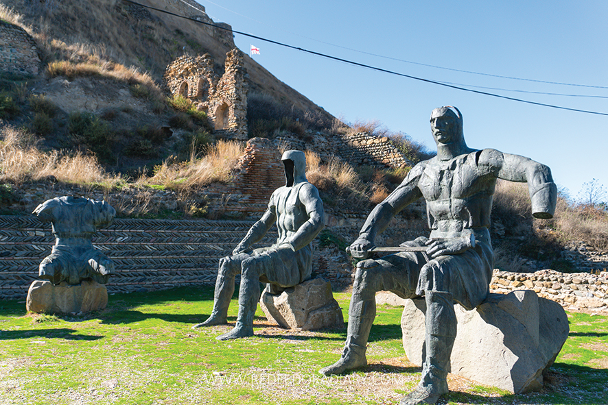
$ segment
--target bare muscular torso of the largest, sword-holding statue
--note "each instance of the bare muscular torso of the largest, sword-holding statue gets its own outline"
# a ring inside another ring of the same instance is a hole
[[[418,188],[426,200],[432,237],[488,228],[496,175],[478,164],[481,153],[426,162]]]

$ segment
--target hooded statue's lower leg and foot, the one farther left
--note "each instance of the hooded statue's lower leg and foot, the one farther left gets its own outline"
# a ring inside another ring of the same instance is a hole
[[[246,256],[248,257],[248,256]],[[228,323],[228,307],[234,293],[234,279],[241,271],[240,258],[226,257],[220,259],[218,278],[215,279],[215,293],[213,294],[213,310],[206,321],[198,323],[192,328],[202,326],[225,325]]]

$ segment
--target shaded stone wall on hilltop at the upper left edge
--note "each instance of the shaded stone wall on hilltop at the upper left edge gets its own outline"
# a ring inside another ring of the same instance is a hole
[[[0,20],[0,71],[23,75],[40,73],[34,38],[25,29]]]

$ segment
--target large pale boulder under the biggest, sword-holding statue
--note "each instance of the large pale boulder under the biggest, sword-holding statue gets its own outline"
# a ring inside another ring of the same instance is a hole
[[[422,365],[424,299],[408,300],[401,317],[408,359]],[[456,304],[458,333],[450,358],[452,373],[512,393],[541,389],[543,373],[553,364],[570,328],[559,304],[534,291],[490,294],[465,310]]]

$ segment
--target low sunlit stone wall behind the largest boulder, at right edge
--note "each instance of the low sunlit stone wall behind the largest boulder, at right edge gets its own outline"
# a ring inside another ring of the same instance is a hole
[[[569,310],[608,310],[608,271],[599,273],[510,273],[495,270],[491,292],[507,294],[513,290],[533,290],[539,297],[559,302]]]

